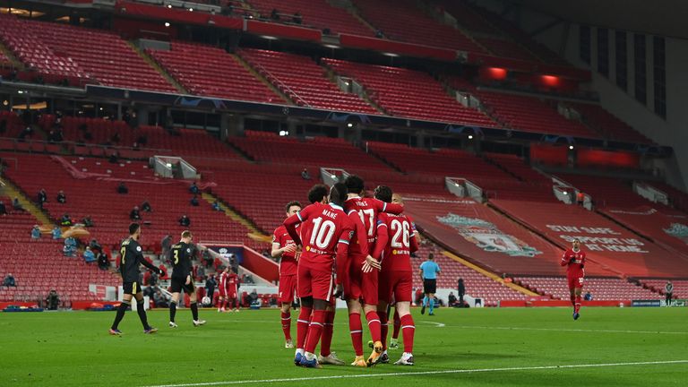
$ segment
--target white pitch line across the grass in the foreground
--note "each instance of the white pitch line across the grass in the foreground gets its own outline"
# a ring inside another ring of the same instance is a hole
[[[182,384],[159,384],[146,387],[200,387],[200,386],[216,386],[216,385],[231,385],[231,384],[255,384],[255,383],[288,383],[288,382],[310,382],[314,380],[331,380],[331,379],[356,379],[356,378],[370,378],[380,376],[414,376],[414,375],[428,375],[428,374],[475,374],[475,373],[489,373],[489,372],[503,372],[503,371],[533,371],[533,370],[551,370],[551,369],[565,369],[565,368],[600,368],[600,367],[614,367],[614,366],[653,366],[653,365],[669,365],[669,364],[688,364],[688,360],[665,360],[665,361],[648,361],[648,362],[628,362],[628,363],[602,363],[602,364],[583,364],[583,365],[560,365],[560,366],[523,366],[523,367],[505,367],[505,368],[476,368],[476,369],[459,369],[459,370],[443,370],[443,371],[421,371],[421,372],[397,372],[387,374],[343,374],[343,375],[329,375],[329,376],[308,376],[297,378],[282,378],[282,379],[258,379],[245,381],[224,381],[224,382],[207,382],[207,383],[182,383]]]

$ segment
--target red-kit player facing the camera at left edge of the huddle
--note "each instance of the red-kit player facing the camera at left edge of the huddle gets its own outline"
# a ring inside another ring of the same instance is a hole
[[[301,211],[300,202],[288,202],[285,206],[287,218]],[[287,228],[280,226],[272,234],[272,258],[280,258],[280,289],[279,300],[281,308],[282,331],[284,332],[284,348],[294,348],[291,340],[291,304],[297,291],[297,245],[289,236]]]

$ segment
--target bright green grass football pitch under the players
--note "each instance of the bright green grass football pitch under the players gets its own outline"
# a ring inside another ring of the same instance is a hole
[[[154,335],[127,312],[121,337],[107,334],[115,313],[2,313],[0,386],[688,385],[688,308],[584,307],[575,322],[570,308],[435,312],[413,310],[416,366],[323,369],[293,365],[276,309],[202,310],[198,328],[179,310],[176,329],[167,311],[151,311]],[[332,349],[353,360],[344,310]],[[390,350],[392,362],[401,351]]]

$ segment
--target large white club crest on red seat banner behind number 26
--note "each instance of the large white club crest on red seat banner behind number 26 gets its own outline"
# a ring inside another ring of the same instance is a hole
[[[455,228],[460,236],[486,252],[528,257],[542,254],[519,238],[504,234],[494,224],[483,219],[467,218],[449,212],[443,217],[438,216],[437,220]]]

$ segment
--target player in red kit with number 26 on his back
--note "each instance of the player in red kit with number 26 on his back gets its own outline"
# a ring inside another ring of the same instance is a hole
[[[380,185],[375,188],[375,198],[383,202],[403,204],[401,196],[392,196],[391,189]],[[393,198],[393,199],[392,199]],[[404,353],[399,361],[394,363],[401,366],[413,366],[413,338],[416,326],[411,316],[411,293],[413,292],[413,270],[411,269],[411,253],[418,250],[413,222],[406,215],[378,214],[377,242],[375,254],[382,251],[382,266],[380,272],[379,295],[377,313],[383,322],[387,323],[387,305],[391,299],[395,300],[395,310],[399,313],[401,328],[404,335]],[[385,324],[386,325],[386,324]],[[386,328],[386,327],[385,327]],[[383,329],[383,361],[387,360],[387,329]]]

